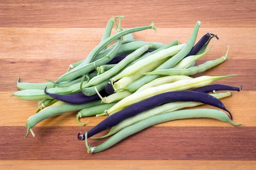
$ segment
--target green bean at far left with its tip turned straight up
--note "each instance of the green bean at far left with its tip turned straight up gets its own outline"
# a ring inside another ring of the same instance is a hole
[[[19,82],[20,77],[17,79],[17,88],[20,90],[26,89],[41,89],[43,90],[46,86],[49,88],[53,88],[54,85],[51,82],[44,82],[44,83],[30,83],[30,82]]]

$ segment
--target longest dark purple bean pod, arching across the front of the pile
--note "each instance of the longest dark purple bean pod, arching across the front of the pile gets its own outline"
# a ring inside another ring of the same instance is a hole
[[[128,106],[122,111],[116,112],[111,116],[108,116],[98,125],[93,127],[91,130],[87,132],[88,138],[91,136],[108,129],[109,127],[113,127],[118,125],[125,119],[136,116],[137,114],[147,111],[149,109],[155,108],[159,105],[163,105],[169,102],[201,102],[206,105],[211,105],[216,108],[223,109],[230,114],[232,119],[232,115],[230,111],[228,111],[224,104],[214,96],[211,96],[206,93],[196,92],[196,91],[172,91],[163,94],[158,94],[156,96],[152,96],[148,99],[145,99],[141,102],[134,103],[133,105]],[[85,133],[83,135],[78,136],[78,140],[84,140]]]

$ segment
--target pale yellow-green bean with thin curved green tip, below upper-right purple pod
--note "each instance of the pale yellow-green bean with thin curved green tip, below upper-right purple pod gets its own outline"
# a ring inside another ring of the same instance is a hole
[[[188,56],[184,59],[182,59],[180,62],[178,62],[175,66],[173,66],[172,68],[188,68],[189,65],[191,65],[193,62],[195,62],[195,60],[200,59],[201,57],[203,57],[205,54],[207,54],[210,50],[211,50],[212,46],[209,48],[209,50],[205,51],[203,54],[199,54],[199,55],[194,55],[194,56]]]

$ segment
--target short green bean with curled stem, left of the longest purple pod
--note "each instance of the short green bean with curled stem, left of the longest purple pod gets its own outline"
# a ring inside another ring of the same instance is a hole
[[[105,105],[98,105],[93,106],[90,108],[85,108],[79,111],[76,115],[76,122],[82,126],[84,126],[86,123],[81,123],[79,121],[79,118],[81,117],[87,117],[87,116],[95,116],[96,114],[100,114],[104,112],[105,110],[111,108],[115,103],[105,104]]]

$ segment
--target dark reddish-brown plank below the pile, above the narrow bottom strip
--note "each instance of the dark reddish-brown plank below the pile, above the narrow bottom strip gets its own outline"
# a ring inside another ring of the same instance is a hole
[[[36,127],[36,137],[22,139],[25,127],[0,127],[0,160],[256,160],[255,127],[149,127],[104,152],[87,154],[76,136],[90,128]]]

